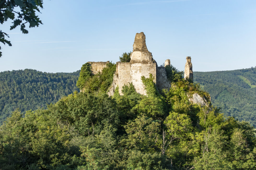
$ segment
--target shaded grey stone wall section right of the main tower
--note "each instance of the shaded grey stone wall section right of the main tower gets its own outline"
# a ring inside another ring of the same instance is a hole
[[[167,73],[165,67],[157,67],[156,71],[156,86],[159,90],[167,89],[171,87],[171,82],[167,79]]]

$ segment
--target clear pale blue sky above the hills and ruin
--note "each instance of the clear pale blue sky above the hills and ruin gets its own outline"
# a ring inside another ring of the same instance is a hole
[[[9,30],[12,47],[2,46],[0,71],[35,69],[73,72],[88,61],[119,61],[144,32],[153,58],[193,71],[256,66],[255,0],[68,1],[44,0],[43,25]],[[27,26],[28,27],[28,26]]]

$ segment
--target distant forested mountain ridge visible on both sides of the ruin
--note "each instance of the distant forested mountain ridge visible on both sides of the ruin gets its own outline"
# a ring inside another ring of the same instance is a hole
[[[73,73],[46,73],[32,69],[0,72],[0,124],[16,108],[23,113],[57,102],[75,90],[80,70]],[[194,72],[222,113],[256,127],[256,68],[232,71]]]

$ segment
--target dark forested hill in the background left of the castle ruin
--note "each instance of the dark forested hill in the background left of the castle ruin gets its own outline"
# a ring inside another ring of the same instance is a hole
[[[61,97],[78,90],[80,70],[73,73],[46,73],[32,69],[0,72],[0,124],[16,108],[46,108]]]

